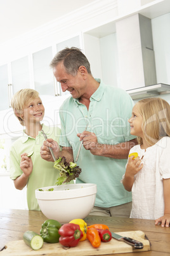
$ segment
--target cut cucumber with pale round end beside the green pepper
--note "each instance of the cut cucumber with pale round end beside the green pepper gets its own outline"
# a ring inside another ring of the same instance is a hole
[[[43,238],[34,231],[26,231],[23,234],[23,241],[33,250],[39,250],[44,243]]]

